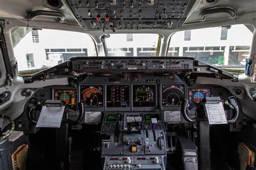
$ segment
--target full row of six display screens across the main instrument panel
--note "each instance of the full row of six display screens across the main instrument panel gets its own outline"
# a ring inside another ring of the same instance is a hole
[[[53,99],[63,100],[70,111],[77,110],[77,89],[53,89]],[[180,108],[188,98],[189,110],[196,110],[210,87],[186,87],[185,83],[80,84],[79,100],[90,111],[154,111]],[[187,95],[187,96],[186,96]]]

